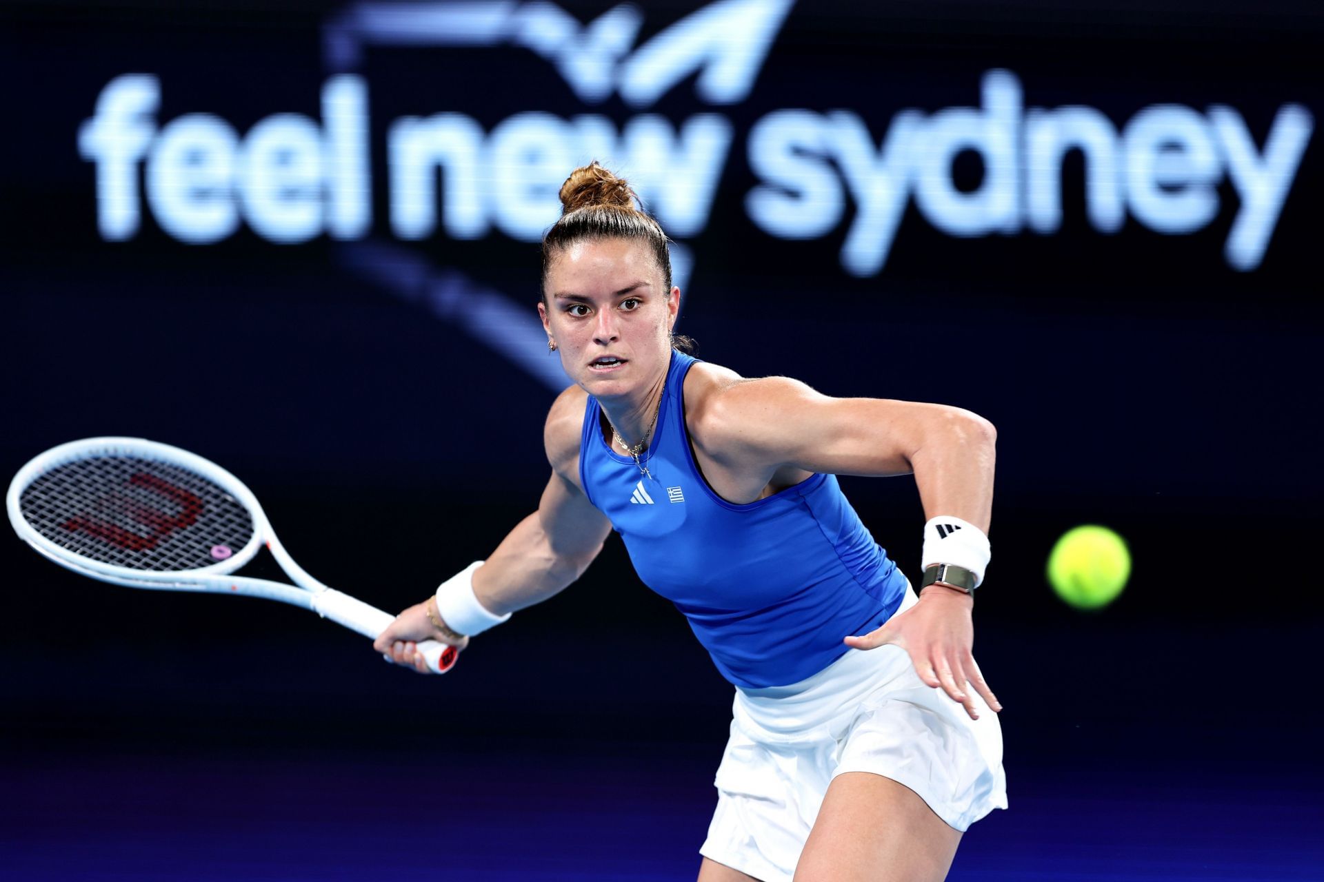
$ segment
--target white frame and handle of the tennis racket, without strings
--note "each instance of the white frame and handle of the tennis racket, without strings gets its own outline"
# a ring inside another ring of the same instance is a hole
[[[195,570],[134,570],[115,566],[114,563],[101,563],[83,558],[68,549],[56,545],[34,530],[19,508],[19,497],[37,477],[45,472],[66,463],[85,459],[89,454],[103,454],[107,456],[135,456],[139,459],[155,460],[166,464],[181,465],[197,472],[212,481],[226,493],[237,499],[248,509],[253,518],[253,537],[248,545],[234,551],[229,558],[218,561],[211,566]],[[376,639],[396,616],[389,612],[357,600],[348,594],[336,591],[332,587],[314,579],[307,570],[301,567],[290,557],[290,553],[281,545],[271,522],[266,518],[266,512],[258,504],[253,492],[244,483],[228,471],[203,459],[187,450],[162,444],[160,442],[144,438],[83,438],[52,447],[44,454],[33,458],[9,481],[9,492],[5,495],[5,508],[9,512],[9,524],[21,540],[30,545],[44,558],[58,563],[66,570],[91,579],[122,584],[130,588],[154,588],[163,591],[207,591],[212,594],[238,594],[250,598],[265,598],[279,600],[291,606],[302,607],[316,612],[323,619],[331,619],[351,631],[357,631],[365,637]],[[233,575],[234,570],[252,561],[260,547],[266,546],[275,562],[281,565],[285,574],[295,584],[282,584],[269,579],[258,579],[246,575]],[[295,587],[298,586],[298,587]],[[441,656],[448,645],[436,640],[424,640],[417,644],[422,652],[428,666],[434,673],[445,673],[441,668]]]

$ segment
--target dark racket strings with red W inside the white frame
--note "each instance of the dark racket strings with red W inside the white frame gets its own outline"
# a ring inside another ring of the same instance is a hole
[[[196,570],[238,553],[253,516],[201,475],[136,456],[48,469],[19,497],[37,533],[82,558],[131,570]]]

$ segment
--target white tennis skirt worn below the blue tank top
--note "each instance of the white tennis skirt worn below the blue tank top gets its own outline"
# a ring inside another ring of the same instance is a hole
[[[907,583],[898,612],[916,603]],[[899,647],[851,649],[789,686],[736,689],[731,741],[718,767],[718,809],[699,853],[763,882],[790,882],[828,784],[883,775],[965,830],[1006,808],[1002,730],[924,685]],[[886,820],[886,819],[879,819]]]

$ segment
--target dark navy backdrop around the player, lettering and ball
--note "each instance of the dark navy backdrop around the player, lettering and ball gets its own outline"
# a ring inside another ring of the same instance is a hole
[[[609,4],[565,7],[588,21]],[[339,8],[0,7],[0,471],[89,435],[193,450],[254,489],[310,571],[399,610],[536,506],[553,391],[503,357],[502,327],[438,319],[364,272],[352,243],[241,229],[187,246],[150,213],[134,239],[102,241],[77,149],[123,73],[162,78],[159,124],[315,118],[320,28]],[[696,8],[649,5],[641,40]],[[1200,233],[1128,220],[1103,235],[1075,156],[1059,233],[953,238],[912,205],[867,279],[838,264],[849,212],[806,242],[745,218],[744,135],[779,107],[846,107],[878,138],[906,107],[976,106],[981,74],[1005,67],[1027,106],[1090,104],[1119,126],[1155,103],[1231,104],[1262,145],[1284,103],[1324,115],[1321,32],[1313,4],[1278,0],[805,3],[749,98],[718,108],[736,144],[688,242],[681,325],[700,357],[998,427],[976,652],[1006,705],[1012,811],[970,830],[952,878],[1324,875],[1317,134],[1250,272],[1222,259],[1230,185]],[[516,49],[375,49],[363,73],[371,242],[532,311],[536,246],[391,238],[385,120],[636,111],[587,108]],[[687,81],[653,112],[711,110]],[[965,155],[956,175],[976,186],[980,163]],[[843,487],[914,578],[914,481]],[[1053,541],[1083,522],[1117,529],[1135,558],[1095,615],[1043,579]],[[616,540],[438,680],[293,608],[102,586],[17,541],[0,542],[0,875],[692,878],[730,686]]]

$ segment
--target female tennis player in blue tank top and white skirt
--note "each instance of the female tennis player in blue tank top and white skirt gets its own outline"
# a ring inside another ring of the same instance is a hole
[[[735,690],[699,882],[943,879],[1006,807],[997,698],[973,645],[989,561],[993,426],[941,405],[747,380],[673,336],[667,238],[597,165],[561,188],[538,304],[575,385],[552,405],[535,513],[375,648],[470,636],[584,573],[614,528]],[[835,475],[914,473],[919,595]]]

